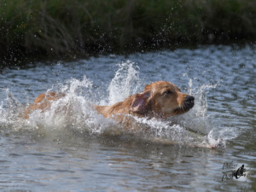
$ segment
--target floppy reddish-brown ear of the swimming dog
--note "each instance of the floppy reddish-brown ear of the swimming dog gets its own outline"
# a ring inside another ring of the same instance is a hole
[[[150,90],[146,90],[135,95],[131,102],[131,111],[136,113],[145,113],[148,109],[150,95]]]

